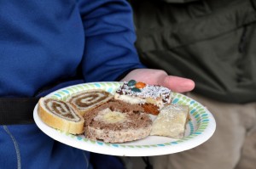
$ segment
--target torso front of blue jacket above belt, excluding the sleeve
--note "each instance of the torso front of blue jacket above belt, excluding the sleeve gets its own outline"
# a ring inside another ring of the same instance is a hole
[[[0,96],[33,96],[74,76],[84,50],[76,1],[0,2]]]

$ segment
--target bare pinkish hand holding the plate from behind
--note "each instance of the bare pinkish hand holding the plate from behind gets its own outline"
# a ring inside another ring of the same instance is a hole
[[[160,85],[170,88],[173,92],[184,93],[194,89],[195,82],[190,79],[168,76],[164,70],[136,69],[131,70],[121,81],[128,82],[131,79],[137,82],[145,82],[151,85]]]

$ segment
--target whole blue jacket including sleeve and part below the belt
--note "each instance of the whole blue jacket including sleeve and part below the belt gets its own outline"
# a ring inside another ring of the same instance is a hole
[[[125,0],[2,0],[0,97],[37,96],[78,70],[84,82],[114,81],[143,67],[135,38]],[[0,168],[89,167],[83,151],[34,124],[0,126],[0,136]]]

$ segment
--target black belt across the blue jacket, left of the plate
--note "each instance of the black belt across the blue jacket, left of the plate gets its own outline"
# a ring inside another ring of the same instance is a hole
[[[0,98],[0,125],[33,123],[39,98]]]

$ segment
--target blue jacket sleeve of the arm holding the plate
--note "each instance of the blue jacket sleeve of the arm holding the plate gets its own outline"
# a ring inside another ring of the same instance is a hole
[[[125,0],[79,2],[84,24],[85,82],[114,81],[127,70],[142,68],[134,46],[132,11]]]

